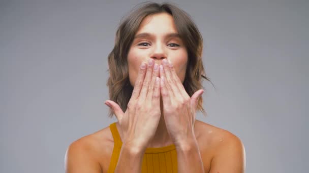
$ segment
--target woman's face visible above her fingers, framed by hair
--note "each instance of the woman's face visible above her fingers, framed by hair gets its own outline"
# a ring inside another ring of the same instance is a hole
[[[135,84],[139,66],[152,58],[160,65],[169,60],[183,82],[186,75],[188,53],[178,36],[173,17],[168,13],[149,15],[141,22],[128,53],[129,78]]]

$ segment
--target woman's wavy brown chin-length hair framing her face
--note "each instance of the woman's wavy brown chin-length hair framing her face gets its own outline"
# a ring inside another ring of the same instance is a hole
[[[173,17],[178,34],[186,45],[188,65],[183,86],[189,96],[191,97],[197,90],[203,88],[202,78],[210,81],[206,77],[202,63],[203,38],[190,16],[170,3],[141,3],[120,23],[116,32],[114,48],[108,55],[109,98],[118,103],[123,112],[127,110],[133,92],[133,86],[129,80],[128,52],[142,20],[148,15],[157,13],[168,13]],[[203,98],[200,97],[197,110],[206,114],[202,106]],[[113,112],[110,110],[109,117],[112,115]]]

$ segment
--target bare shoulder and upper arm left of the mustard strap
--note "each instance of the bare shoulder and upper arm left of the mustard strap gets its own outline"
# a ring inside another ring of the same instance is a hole
[[[108,169],[113,145],[109,126],[72,142],[66,151],[66,172],[102,172]]]

